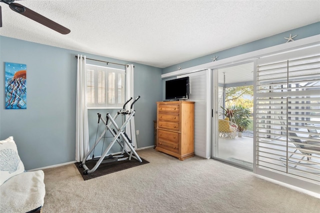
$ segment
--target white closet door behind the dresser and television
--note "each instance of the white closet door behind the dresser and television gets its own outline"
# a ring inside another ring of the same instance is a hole
[[[189,101],[194,101],[194,154],[209,158],[209,130],[210,108],[207,106],[208,96],[208,70],[197,71],[177,78],[189,76],[190,95]]]

